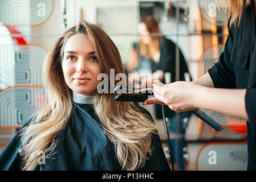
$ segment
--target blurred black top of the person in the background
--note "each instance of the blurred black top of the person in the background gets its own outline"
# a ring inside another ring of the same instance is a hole
[[[184,73],[189,73],[188,66],[186,65],[185,58],[179,49],[180,55],[180,81],[185,81]],[[160,60],[158,63],[151,60],[152,73],[161,70],[164,73],[170,72],[172,74],[171,82],[176,81],[176,44],[172,40],[162,38],[160,42]],[[192,78],[190,77],[190,80]],[[165,82],[165,81],[164,81]],[[156,104],[156,118],[162,119],[162,109],[161,105]],[[165,117],[172,118],[175,116],[176,112],[170,110],[168,106],[164,106]]]

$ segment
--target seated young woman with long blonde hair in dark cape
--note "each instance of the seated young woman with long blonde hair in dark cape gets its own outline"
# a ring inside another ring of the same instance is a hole
[[[49,104],[7,145],[0,169],[169,170],[148,111],[97,92],[97,76],[110,78],[112,68],[124,73],[117,47],[95,24],[60,36],[43,67]]]

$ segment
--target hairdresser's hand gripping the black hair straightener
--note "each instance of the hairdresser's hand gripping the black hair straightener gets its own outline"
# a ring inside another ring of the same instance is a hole
[[[177,112],[195,110],[194,96],[199,94],[200,85],[193,82],[177,81],[172,84],[158,86],[153,84],[155,98],[149,98],[143,102],[147,104],[168,105],[170,109]]]

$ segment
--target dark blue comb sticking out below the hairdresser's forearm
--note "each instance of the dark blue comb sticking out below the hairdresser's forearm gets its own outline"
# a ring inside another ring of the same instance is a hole
[[[202,119],[205,123],[207,123],[210,127],[212,127],[216,131],[221,131],[224,129],[219,123],[213,120],[213,118],[209,117],[209,115],[205,114],[202,110],[197,109],[193,110],[193,114],[196,115],[198,118]]]

